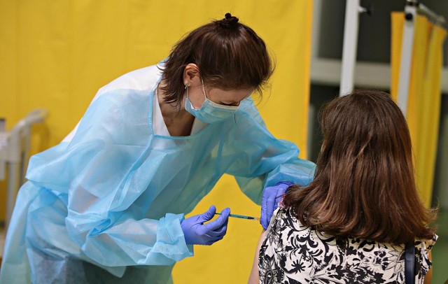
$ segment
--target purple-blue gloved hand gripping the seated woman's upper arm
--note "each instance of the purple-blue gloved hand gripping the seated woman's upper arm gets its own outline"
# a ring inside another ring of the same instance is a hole
[[[265,187],[263,190],[263,196],[261,199],[261,218],[260,224],[263,229],[267,229],[269,222],[272,218],[272,213],[279,207],[279,202],[283,199],[286,189],[293,185],[288,181],[282,181],[274,186]]]

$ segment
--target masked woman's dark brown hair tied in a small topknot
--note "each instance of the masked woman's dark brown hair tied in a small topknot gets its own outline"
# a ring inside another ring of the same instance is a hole
[[[274,69],[265,42],[230,13],[198,27],[174,45],[162,66],[165,101],[182,101],[183,70],[189,63],[199,67],[204,84],[210,87],[255,89],[259,94]]]

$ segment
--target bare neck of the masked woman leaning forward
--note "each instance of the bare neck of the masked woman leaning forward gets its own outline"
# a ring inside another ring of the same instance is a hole
[[[188,113],[185,108],[179,108],[179,106],[167,103],[165,101],[165,92],[162,90],[162,86],[163,83],[158,85],[158,101],[163,121],[167,126],[169,134],[171,136],[190,136],[195,117]],[[182,101],[181,106],[183,106],[183,104],[184,101]]]

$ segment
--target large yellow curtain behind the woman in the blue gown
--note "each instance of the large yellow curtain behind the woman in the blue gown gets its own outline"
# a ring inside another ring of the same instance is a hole
[[[31,152],[45,150],[73,129],[99,87],[159,62],[183,34],[230,12],[265,39],[276,59],[272,87],[258,105],[267,127],[306,157],[311,9],[311,0],[0,0],[0,117],[10,129],[34,108],[47,108],[47,131],[34,129]],[[189,215],[210,204],[260,214],[229,176]],[[176,264],[174,281],[246,282],[260,231],[258,222],[230,220],[223,241],[197,246],[195,257]]]

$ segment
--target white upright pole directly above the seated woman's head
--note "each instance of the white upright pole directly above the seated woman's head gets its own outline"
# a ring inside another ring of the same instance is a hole
[[[343,96],[353,90],[353,80],[358,48],[358,24],[360,0],[346,0],[344,45],[342,49],[342,69],[339,95]]]

